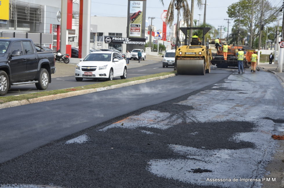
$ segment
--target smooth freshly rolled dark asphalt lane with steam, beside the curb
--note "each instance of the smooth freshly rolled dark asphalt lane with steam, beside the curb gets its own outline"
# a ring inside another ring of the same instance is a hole
[[[201,89],[230,74],[230,71],[216,70],[205,76],[179,75],[120,89],[0,109],[0,162],[133,110]]]

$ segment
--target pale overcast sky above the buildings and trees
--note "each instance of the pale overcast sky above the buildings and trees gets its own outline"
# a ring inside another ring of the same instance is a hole
[[[146,21],[148,17],[156,17],[153,19],[152,24],[156,26],[156,29],[163,29],[163,22],[161,20],[161,14],[163,10],[167,10],[171,0],[163,0],[164,7],[159,0],[147,0],[146,2]],[[227,15],[228,6],[232,3],[236,3],[239,0],[207,0],[206,6],[206,23],[213,25],[216,29],[219,26],[228,27],[227,20],[229,19]],[[268,0],[272,5],[277,5],[280,7],[282,5],[282,0]],[[91,16],[127,16],[127,6],[128,0],[91,0]],[[188,1],[191,6],[191,1]],[[203,0],[205,2],[205,0]],[[209,4],[209,5],[208,5]],[[201,14],[200,16],[198,14]],[[194,5],[194,19],[200,20],[203,22],[204,15],[204,5],[201,10],[197,7],[196,3]],[[149,20],[149,23],[151,20]],[[176,14],[175,21],[176,23]],[[233,20],[229,23],[229,31],[232,29],[234,24]],[[223,27],[222,27],[223,28]],[[167,34],[169,34],[170,28],[167,28]],[[227,36],[227,35],[226,35]]]

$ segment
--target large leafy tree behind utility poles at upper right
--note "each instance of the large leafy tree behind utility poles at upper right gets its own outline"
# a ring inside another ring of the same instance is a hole
[[[254,0],[254,4],[252,4],[252,0],[240,0],[237,3],[232,3],[228,7],[227,14],[229,18],[234,19],[234,28],[238,30],[238,32],[241,32],[241,29],[243,29],[246,34],[245,36],[241,35],[239,38],[245,38],[247,37],[247,33],[250,33],[250,27],[253,27],[253,35],[251,36],[253,41],[256,37],[259,36],[260,28],[261,28],[261,4],[262,0]],[[254,19],[253,19],[253,25],[251,25],[251,19],[252,19],[252,6],[254,6]],[[272,23],[273,21],[276,21],[279,16],[279,8],[272,7],[271,3],[269,1],[264,1],[263,4],[263,26],[267,25],[269,23]],[[236,39],[236,40],[239,40]]]

